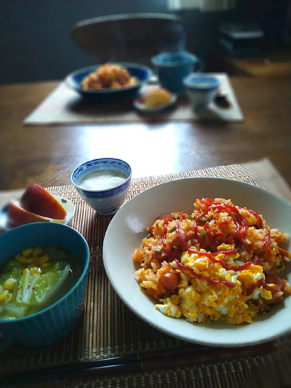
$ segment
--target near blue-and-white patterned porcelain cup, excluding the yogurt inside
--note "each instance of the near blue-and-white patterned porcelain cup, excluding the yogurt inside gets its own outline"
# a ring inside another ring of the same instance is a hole
[[[84,189],[81,181],[90,173],[97,171],[119,170],[125,175],[125,180],[120,184],[103,190]],[[71,175],[71,181],[84,201],[99,214],[107,216],[115,214],[123,204],[128,193],[132,177],[132,169],[128,163],[121,159],[100,158],[82,163],[76,167]]]

